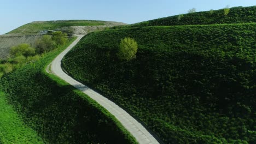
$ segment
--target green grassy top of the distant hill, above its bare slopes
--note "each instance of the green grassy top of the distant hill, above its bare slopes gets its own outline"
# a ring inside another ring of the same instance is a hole
[[[104,25],[105,21],[92,21],[92,20],[63,20],[63,21],[35,21],[27,23],[21,27],[10,31],[7,34],[38,34],[43,30],[55,30],[62,27],[70,26],[100,26]]]

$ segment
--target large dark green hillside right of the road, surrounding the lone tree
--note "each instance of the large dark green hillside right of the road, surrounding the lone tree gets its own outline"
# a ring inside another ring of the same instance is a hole
[[[128,62],[116,56],[125,37],[138,43]],[[87,35],[62,62],[165,143],[253,143],[255,38],[256,23],[113,29]]]

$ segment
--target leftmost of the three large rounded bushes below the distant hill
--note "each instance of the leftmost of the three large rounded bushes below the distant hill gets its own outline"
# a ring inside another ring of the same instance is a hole
[[[34,56],[36,55],[36,49],[31,47],[29,44],[19,44],[17,46],[13,46],[10,49],[10,56],[11,57],[18,57],[18,56]]]

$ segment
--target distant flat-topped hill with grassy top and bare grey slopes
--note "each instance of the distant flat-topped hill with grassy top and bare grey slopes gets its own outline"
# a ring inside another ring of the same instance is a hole
[[[34,41],[43,34],[52,31],[62,31],[69,35],[88,34],[100,31],[106,27],[126,25],[121,22],[92,21],[92,20],[60,20],[60,21],[35,21],[0,35],[0,59],[6,59],[10,47],[22,43],[34,45]]]

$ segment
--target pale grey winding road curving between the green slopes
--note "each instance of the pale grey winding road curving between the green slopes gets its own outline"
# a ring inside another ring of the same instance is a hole
[[[83,85],[82,83],[74,80],[72,77],[68,76],[61,68],[61,60],[66,55],[66,53],[74,47],[80,39],[84,37],[84,35],[77,35],[77,39],[67,47],[59,56],[57,56],[53,62],[49,65],[51,72],[56,76],[59,76],[61,79],[68,82],[70,85],[74,86],[75,88],[79,89],[86,95],[89,95],[90,98],[97,101],[98,104],[103,106],[106,110],[108,110],[112,115],[114,115],[124,127],[130,131],[130,133],[135,137],[135,139],[141,144],[155,144],[159,143],[156,139],[139,123],[129,115],[125,110],[121,109],[118,105],[113,103],[112,101],[108,100],[107,98],[103,97],[101,94],[93,91],[89,87]]]

